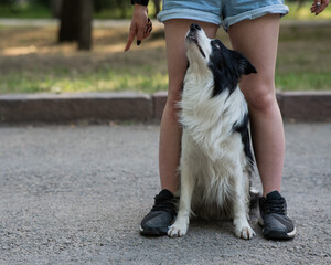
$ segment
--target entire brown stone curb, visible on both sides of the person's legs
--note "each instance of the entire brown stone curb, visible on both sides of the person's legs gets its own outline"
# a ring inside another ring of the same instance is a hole
[[[331,91],[277,93],[285,119],[330,120]],[[1,123],[160,120],[167,92],[0,95]]]

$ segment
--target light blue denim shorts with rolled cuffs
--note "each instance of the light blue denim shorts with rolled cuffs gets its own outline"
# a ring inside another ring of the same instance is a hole
[[[190,19],[223,25],[227,30],[243,20],[288,12],[284,0],[163,0],[158,20]]]

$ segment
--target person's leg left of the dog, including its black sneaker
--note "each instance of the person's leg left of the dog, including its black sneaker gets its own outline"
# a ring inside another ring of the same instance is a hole
[[[156,197],[152,210],[142,219],[140,233],[166,235],[175,216],[173,193],[178,189],[181,127],[178,121],[177,103],[183,86],[188,60],[185,34],[192,23],[199,23],[210,38],[214,38],[217,25],[193,20],[172,19],[166,21],[166,42],[169,71],[168,99],[160,128],[159,168],[162,191]]]

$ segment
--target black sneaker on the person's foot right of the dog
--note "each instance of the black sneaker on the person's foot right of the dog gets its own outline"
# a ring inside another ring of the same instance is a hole
[[[259,224],[264,226],[264,236],[273,240],[289,240],[295,237],[297,232],[296,226],[286,215],[286,201],[278,191],[273,191],[266,198],[263,197],[259,199]]]

